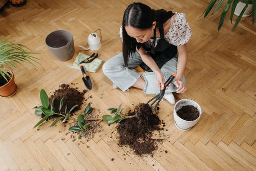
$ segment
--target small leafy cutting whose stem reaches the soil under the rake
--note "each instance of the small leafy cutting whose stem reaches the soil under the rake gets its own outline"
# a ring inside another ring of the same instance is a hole
[[[103,115],[102,119],[106,121],[106,124],[112,124],[112,123],[120,123],[123,119],[128,119],[128,118],[134,118],[136,115],[132,116],[126,116],[123,114],[123,108],[121,108],[121,105],[119,105],[118,109],[117,108],[110,108],[108,111],[110,111],[111,114],[115,114],[114,117],[111,115]]]

